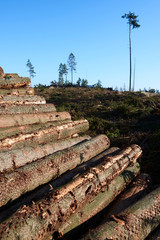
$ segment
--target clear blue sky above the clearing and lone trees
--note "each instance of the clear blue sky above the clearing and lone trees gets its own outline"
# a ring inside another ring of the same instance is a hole
[[[132,30],[135,88],[160,89],[160,0],[5,0],[0,9],[5,72],[29,76],[30,59],[36,71],[32,85],[49,85],[72,52],[75,82],[101,80],[114,88],[128,88],[128,24],[121,16],[134,12],[141,25]]]

